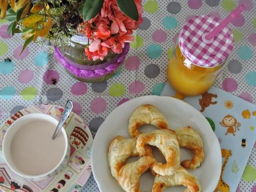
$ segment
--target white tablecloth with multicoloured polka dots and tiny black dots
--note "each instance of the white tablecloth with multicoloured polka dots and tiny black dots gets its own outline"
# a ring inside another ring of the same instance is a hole
[[[215,86],[255,104],[256,102],[256,2],[254,0],[144,0],[143,23],[134,32],[124,66],[112,79],[84,83],[70,77],[44,46],[29,45],[20,55],[23,41],[8,36],[8,22],[0,20],[0,122],[13,112],[34,104],[65,105],[72,99],[74,111],[92,132],[125,101],[142,95],[160,95],[166,82],[166,66],[183,24],[191,17],[209,14],[224,18],[239,4],[247,4],[243,16],[230,24],[234,50]],[[11,61],[4,61],[5,58]],[[256,146],[238,191],[256,191]],[[84,192],[99,191],[93,179]]]

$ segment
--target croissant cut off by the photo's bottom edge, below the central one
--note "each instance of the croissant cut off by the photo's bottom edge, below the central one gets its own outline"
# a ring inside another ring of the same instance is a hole
[[[162,192],[170,186],[186,186],[184,192],[201,192],[201,185],[194,175],[190,174],[185,168],[180,166],[174,175],[161,176],[154,178],[152,192]]]

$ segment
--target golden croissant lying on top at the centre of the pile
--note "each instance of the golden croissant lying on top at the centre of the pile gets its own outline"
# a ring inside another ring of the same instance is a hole
[[[154,130],[139,135],[136,148],[140,156],[146,155],[144,145],[149,144],[158,147],[165,156],[166,164],[157,163],[153,166],[154,173],[159,175],[172,175],[180,166],[180,147],[175,132],[171,130]]]

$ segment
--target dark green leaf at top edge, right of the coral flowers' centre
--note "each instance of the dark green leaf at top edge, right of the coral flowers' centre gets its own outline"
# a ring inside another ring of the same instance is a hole
[[[117,5],[127,17],[138,21],[139,13],[133,0],[117,0]]]

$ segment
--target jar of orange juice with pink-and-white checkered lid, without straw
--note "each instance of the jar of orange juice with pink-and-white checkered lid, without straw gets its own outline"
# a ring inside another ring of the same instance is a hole
[[[225,65],[234,44],[230,28],[225,27],[211,40],[205,38],[219,23],[216,17],[199,16],[182,28],[167,67],[167,78],[177,93],[205,93]]]

